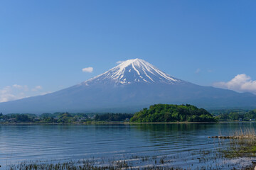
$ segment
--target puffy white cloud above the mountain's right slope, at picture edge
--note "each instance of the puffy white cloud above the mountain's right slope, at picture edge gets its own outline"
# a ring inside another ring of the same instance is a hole
[[[253,81],[252,78],[246,74],[238,74],[228,82],[217,82],[213,84],[213,86],[238,92],[250,92],[256,94],[256,81]]]

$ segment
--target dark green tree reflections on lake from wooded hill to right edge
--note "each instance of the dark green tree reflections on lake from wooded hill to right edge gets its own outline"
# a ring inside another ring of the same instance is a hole
[[[163,142],[181,140],[192,141],[198,136],[230,135],[237,130],[255,128],[256,123],[181,123],[181,124],[137,124],[131,125],[139,132],[139,137]]]

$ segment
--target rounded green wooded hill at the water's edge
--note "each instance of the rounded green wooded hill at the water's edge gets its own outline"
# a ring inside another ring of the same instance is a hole
[[[168,122],[216,122],[217,119],[203,108],[192,105],[156,104],[134,114],[130,122],[168,123]]]

